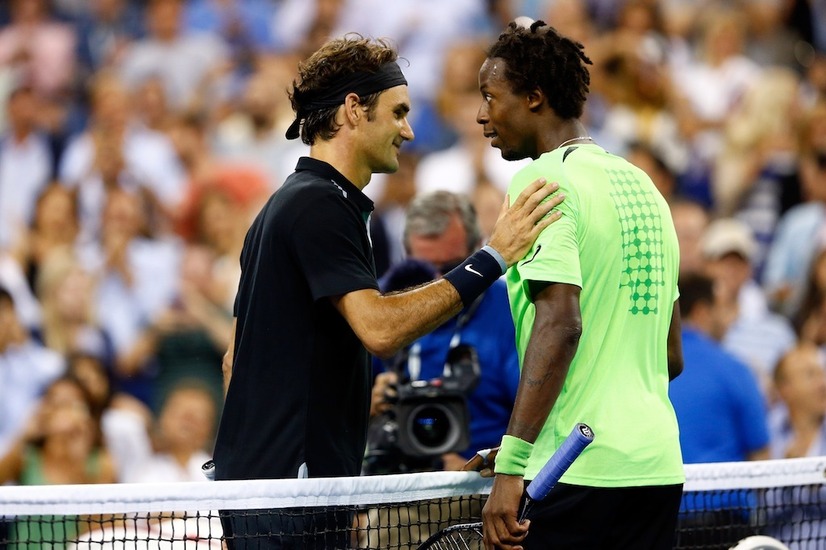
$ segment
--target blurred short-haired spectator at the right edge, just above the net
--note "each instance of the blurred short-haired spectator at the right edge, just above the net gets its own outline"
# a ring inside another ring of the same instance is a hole
[[[770,416],[771,458],[826,455],[826,365],[823,351],[802,343],[774,370],[778,406]]]

